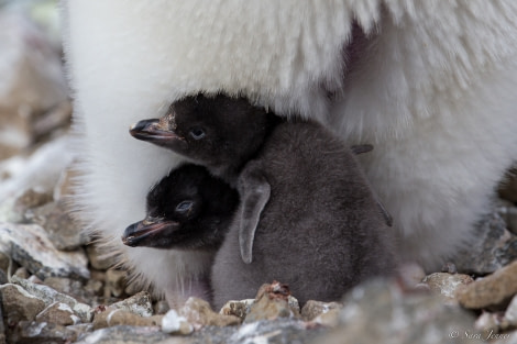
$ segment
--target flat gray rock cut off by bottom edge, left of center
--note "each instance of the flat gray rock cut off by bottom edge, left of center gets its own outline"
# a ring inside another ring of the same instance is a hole
[[[157,326],[120,325],[94,331],[79,339],[76,344],[154,344],[168,337],[169,335],[160,331]]]

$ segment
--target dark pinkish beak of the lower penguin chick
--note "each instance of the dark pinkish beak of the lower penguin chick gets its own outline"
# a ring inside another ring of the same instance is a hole
[[[131,247],[168,248],[168,238],[179,229],[179,223],[163,219],[145,219],[128,226],[122,242]]]

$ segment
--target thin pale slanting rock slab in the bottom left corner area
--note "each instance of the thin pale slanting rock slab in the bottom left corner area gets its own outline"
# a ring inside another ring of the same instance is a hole
[[[77,314],[80,321],[84,323],[91,322],[94,319],[94,309],[91,307],[78,302],[76,299],[67,295],[57,292],[48,286],[32,284],[25,279],[20,279],[16,277],[12,278],[12,282],[23,287],[23,289],[25,289],[30,295],[43,300],[45,306],[52,304],[54,302],[68,304],[68,307],[72,308],[74,313]]]

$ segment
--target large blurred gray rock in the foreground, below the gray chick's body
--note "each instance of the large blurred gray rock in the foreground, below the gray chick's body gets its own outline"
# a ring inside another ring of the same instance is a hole
[[[398,284],[372,280],[351,290],[343,300],[340,325],[315,344],[345,343],[472,343],[474,319],[439,298],[403,291]]]

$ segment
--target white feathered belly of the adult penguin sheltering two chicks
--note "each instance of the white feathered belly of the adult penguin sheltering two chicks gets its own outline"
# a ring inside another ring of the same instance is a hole
[[[361,156],[407,258],[469,240],[516,158],[517,4],[464,1],[63,1],[82,157],[78,208],[135,276],[189,293],[208,256],[124,247],[179,158],[128,134],[199,91],[329,125]],[[355,27],[355,29],[354,29]],[[185,288],[185,286],[187,286]]]

